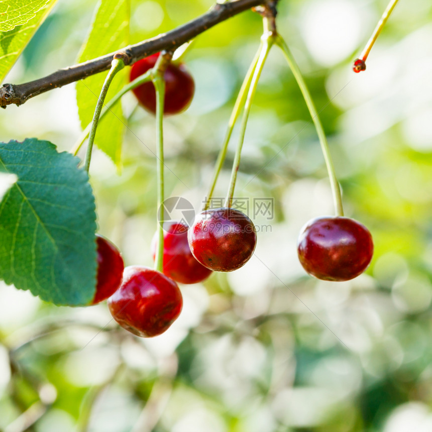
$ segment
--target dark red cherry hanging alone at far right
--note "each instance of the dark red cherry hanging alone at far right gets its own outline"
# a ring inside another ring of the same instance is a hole
[[[318,279],[343,281],[363,273],[374,245],[368,229],[350,218],[321,217],[300,231],[298,258],[307,273]]]

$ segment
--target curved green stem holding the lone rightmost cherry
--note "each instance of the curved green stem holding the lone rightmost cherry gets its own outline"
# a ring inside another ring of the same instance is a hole
[[[298,86],[300,87],[300,91],[303,95],[304,101],[306,102],[310,116],[312,117],[312,121],[316,129],[316,133],[318,134],[319,143],[321,144],[322,153],[326,161],[327,171],[329,173],[330,185],[332,187],[336,214],[338,216],[343,216],[344,209],[342,206],[341,189],[339,187],[338,179],[336,178],[335,166],[333,164],[332,156],[330,154],[329,143],[327,142],[326,134],[319,120],[318,112],[316,111],[312,97],[310,96],[309,90],[303,79],[303,76],[301,75],[300,69],[293,55],[291,54],[291,51],[289,50],[285,41],[280,37],[280,35],[277,35],[276,44],[280,47],[280,49],[285,55],[286,61],[288,62],[288,65],[294,75],[295,80],[297,81]]]

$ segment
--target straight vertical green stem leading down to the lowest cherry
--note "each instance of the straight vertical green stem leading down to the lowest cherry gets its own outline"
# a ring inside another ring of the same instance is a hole
[[[160,220],[158,221],[158,244],[155,256],[155,270],[163,270],[163,221],[164,214],[164,155],[163,155],[163,109],[165,98],[165,80],[163,72],[159,71],[153,78],[153,84],[156,89],[156,141],[157,141],[157,176],[158,176],[158,207]]]

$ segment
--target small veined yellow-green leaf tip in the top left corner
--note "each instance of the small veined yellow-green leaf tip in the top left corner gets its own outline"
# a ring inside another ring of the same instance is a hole
[[[7,32],[27,24],[49,0],[0,0],[0,31]]]

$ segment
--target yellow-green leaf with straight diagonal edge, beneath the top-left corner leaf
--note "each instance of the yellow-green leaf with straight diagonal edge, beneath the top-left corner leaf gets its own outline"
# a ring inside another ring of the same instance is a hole
[[[0,31],[0,82],[5,79],[6,74],[17,61],[36,30],[45,21],[56,1],[45,2],[46,6],[36,12],[34,18],[26,24],[17,26],[10,31]]]

